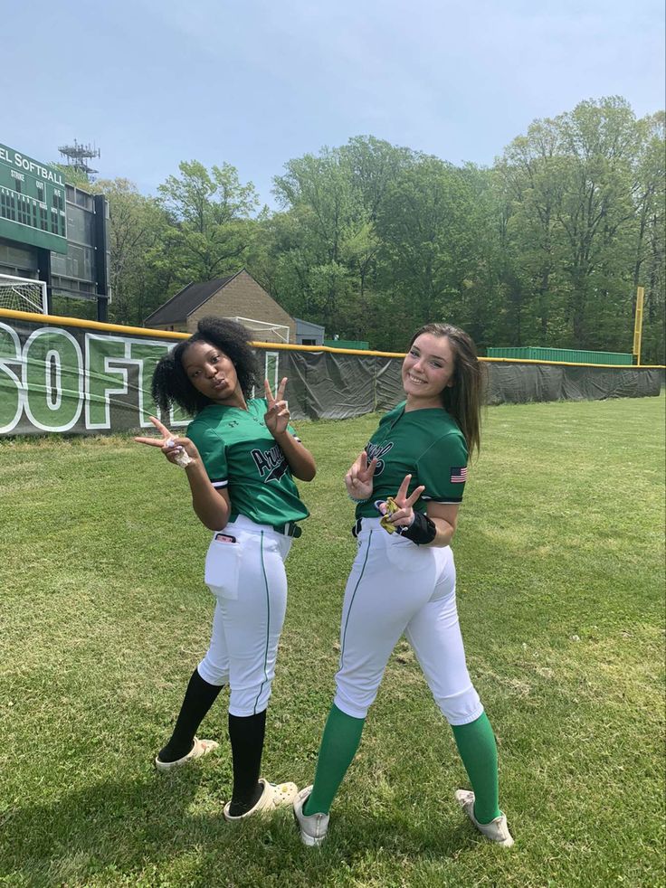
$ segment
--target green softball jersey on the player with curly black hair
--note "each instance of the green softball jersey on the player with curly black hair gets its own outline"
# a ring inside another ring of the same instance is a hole
[[[266,428],[267,409],[263,398],[248,401],[246,411],[209,404],[187,426],[187,437],[201,454],[213,487],[228,490],[230,520],[245,515],[257,524],[278,526],[307,518],[309,512],[280,445]]]

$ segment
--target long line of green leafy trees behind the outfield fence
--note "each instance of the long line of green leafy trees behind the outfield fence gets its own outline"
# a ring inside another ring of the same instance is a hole
[[[490,168],[355,137],[290,160],[261,207],[228,164],[183,162],[109,198],[109,319],[142,324],[190,281],[246,268],[327,335],[401,350],[415,326],[490,345],[631,352],[645,289],[643,363],[664,363],[664,113],[618,97],[535,120]]]

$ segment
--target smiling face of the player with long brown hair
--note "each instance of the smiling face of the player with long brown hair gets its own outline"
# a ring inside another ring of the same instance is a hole
[[[422,333],[403,362],[407,410],[442,407],[442,392],[453,384],[455,354],[448,336]]]

